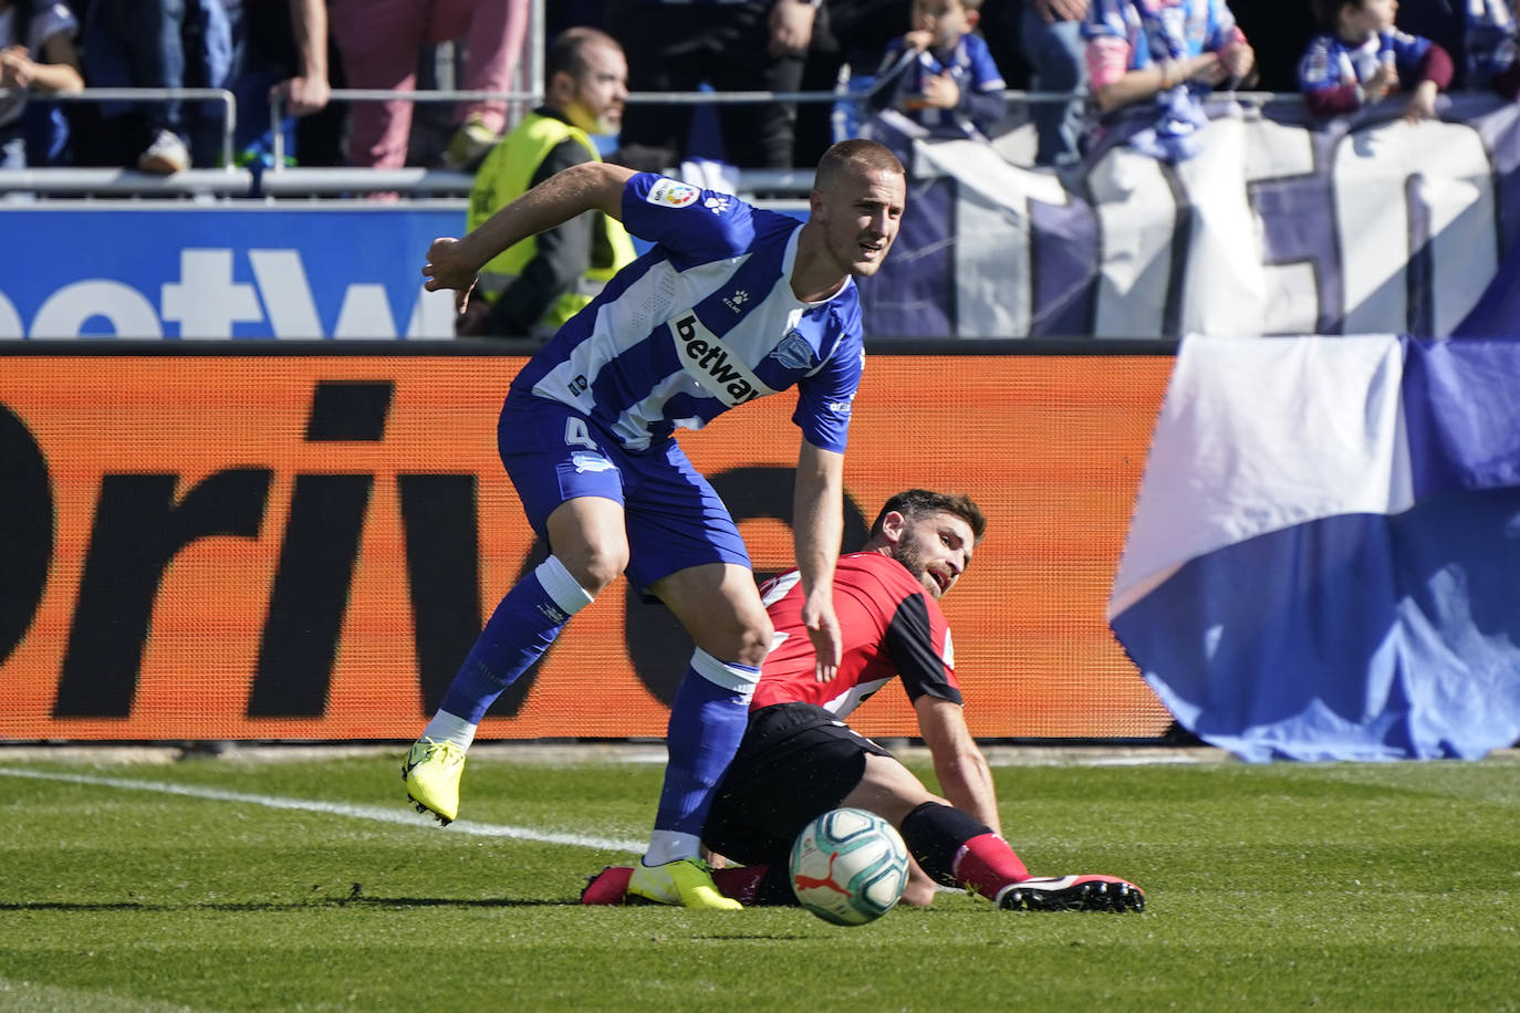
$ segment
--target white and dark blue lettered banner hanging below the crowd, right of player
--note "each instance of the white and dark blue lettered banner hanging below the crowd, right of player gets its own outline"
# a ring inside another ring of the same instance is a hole
[[[866,333],[1444,336],[1520,238],[1514,103],[1442,99],[1427,123],[1398,103],[1325,123],[1289,102],[1208,112],[1198,158],[1108,143],[1062,173],[874,121],[912,181],[862,286]]]

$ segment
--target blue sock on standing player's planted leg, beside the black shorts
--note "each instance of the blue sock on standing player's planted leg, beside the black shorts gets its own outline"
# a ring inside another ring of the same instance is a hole
[[[670,761],[655,813],[657,837],[661,832],[701,837],[717,782],[745,735],[758,677],[758,668],[720,662],[702,650],[692,656],[670,705],[666,734]]]

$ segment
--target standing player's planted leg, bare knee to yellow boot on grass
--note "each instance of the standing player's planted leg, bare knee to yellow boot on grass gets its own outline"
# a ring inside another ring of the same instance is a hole
[[[754,574],[731,562],[676,571],[651,592],[675,612],[696,650],[670,706],[670,758],[655,829],[629,890],[666,904],[739,907],[689,870],[701,870],[702,825],[745,734],[749,697],[771,647],[771,620]]]

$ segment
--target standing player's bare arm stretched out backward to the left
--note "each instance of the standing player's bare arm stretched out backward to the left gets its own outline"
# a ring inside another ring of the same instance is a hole
[[[476,275],[492,257],[585,211],[623,217],[623,184],[634,170],[606,163],[581,163],[555,173],[482,222],[464,238],[436,238],[427,251],[424,289],[453,289],[462,313]]]

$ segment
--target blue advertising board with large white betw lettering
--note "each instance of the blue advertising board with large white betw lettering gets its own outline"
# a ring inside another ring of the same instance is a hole
[[[423,292],[462,210],[49,202],[0,210],[0,339],[453,337]]]

